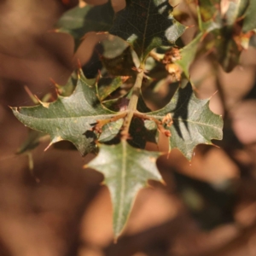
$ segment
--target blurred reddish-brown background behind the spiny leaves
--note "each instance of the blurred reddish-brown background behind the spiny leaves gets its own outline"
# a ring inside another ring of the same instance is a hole
[[[115,8],[124,2],[114,1]],[[78,152],[54,148],[44,153],[46,144],[40,145],[33,151],[33,173],[39,183],[28,169],[26,156],[15,155],[27,130],[8,106],[32,105],[24,85],[38,97],[55,93],[49,79],[65,84],[77,59],[85,63],[91,55],[96,42],[93,36],[73,56],[72,38],[49,32],[75,4],[64,0],[0,1],[0,255],[256,255],[256,101],[243,100],[255,84],[255,49],[241,55],[241,65],[232,73],[219,68],[222,92],[215,93],[216,79],[204,58],[191,69],[195,82],[203,79],[198,82],[198,96],[212,96],[215,113],[224,113],[224,96],[230,127],[241,146],[232,139],[224,140],[223,149],[199,146],[191,164],[175,150],[169,159],[163,156],[159,166],[166,186],[151,183],[154,189],[140,192],[116,245],[108,189],[100,185],[103,177],[82,168],[91,155],[81,158]],[[192,32],[193,28],[184,41],[189,41]],[[236,204],[230,209],[235,222],[201,230],[177,193],[174,172],[216,186],[226,180],[235,183]]]

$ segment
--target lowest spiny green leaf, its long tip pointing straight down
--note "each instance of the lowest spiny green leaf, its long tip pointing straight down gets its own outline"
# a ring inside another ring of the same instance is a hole
[[[161,180],[155,162],[160,156],[132,148],[125,141],[117,145],[100,146],[100,153],[88,167],[102,172],[113,203],[113,233],[117,238],[124,229],[133,201],[148,179]]]

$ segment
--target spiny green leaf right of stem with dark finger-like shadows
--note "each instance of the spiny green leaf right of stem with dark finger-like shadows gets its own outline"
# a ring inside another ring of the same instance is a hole
[[[165,108],[148,113],[155,119],[164,119],[172,115],[173,124],[166,125],[171,131],[170,150],[178,148],[188,160],[191,160],[196,145],[212,144],[212,139],[222,139],[223,120],[220,115],[212,113],[209,99],[198,99],[191,84],[180,88]]]

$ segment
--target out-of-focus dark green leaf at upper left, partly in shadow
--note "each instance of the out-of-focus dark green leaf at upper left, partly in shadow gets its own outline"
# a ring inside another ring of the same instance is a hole
[[[56,24],[56,32],[65,32],[73,36],[76,50],[87,32],[108,32],[113,24],[113,15],[110,1],[97,6],[78,5],[61,16]]]

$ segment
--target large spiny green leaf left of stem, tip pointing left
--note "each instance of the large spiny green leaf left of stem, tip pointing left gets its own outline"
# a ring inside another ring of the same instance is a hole
[[[36,107],[13,108],[13,112],[24,125],[49,134],[51,143],[67,140],[83,155],[94,152],[96,135],[91,131],[92,125],[99,119],[110,119],[115,113],[99,102],[95,88],[85,81],[81,73],[71,96],[58,96],[55,102],[42,102]],[[117,134],[119,129],[113,125],[110,132]],[[109,133],[108,126],[104,127],[103,137],[105,133]]]

